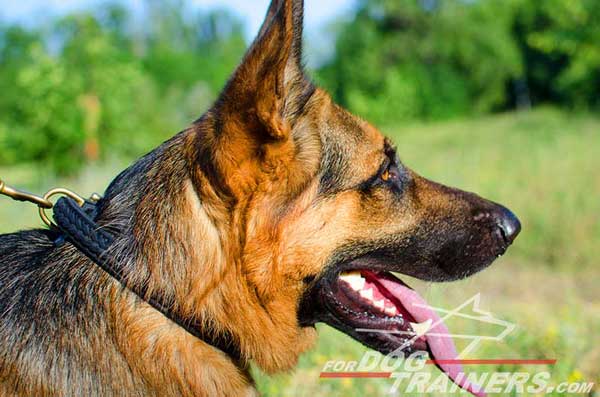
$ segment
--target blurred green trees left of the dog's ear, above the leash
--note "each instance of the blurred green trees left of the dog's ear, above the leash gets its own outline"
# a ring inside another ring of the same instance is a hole
[[[224,12],[188,20],[176,1],[149,4],[139,35],[115,6],[48,29],[0,30],[0,164],[74,172],[138,156],[202,114],[245,47],[240,24]]]

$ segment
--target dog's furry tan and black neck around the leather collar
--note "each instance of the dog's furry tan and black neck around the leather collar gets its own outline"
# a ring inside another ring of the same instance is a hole
[[[195,338],[150,306],[131,304],[136,300],[131,293],[126,309],[115,308],[115,323],[122,328],[117,334],[131,365],[144,365],[139,371],[165,379],[175,372],[196,391],[207,379],[218,384],[226,376],[234,378],[227,385],[236,390],[225,394],[241,395],[253,390],[250,360],[268,372],[289,369],[313,344],[314,335],[308,334],[314,330],[296,331],[308,333],[304,338],[273,336],[278,324],[244,281],[244,238],[228,226],[236,222],[236,210],[223,206],[201,167],[192,163],[195,154],[183,150],[193,134],[181,133],[117,177],[100,203],[98,223],[119,236],[110,255],[128,261],[129,283],[147,286],[184,318],[228,332],[241,359]],[[306,346],[297,346],[298,339]],[[147,354],[152,359],[140,363],[139,356]]]

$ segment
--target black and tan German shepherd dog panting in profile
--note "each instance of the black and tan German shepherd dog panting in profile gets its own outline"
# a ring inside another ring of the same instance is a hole
[[[250,363],[292,369],[319,322],[382,353],[414,332],[405,354],[452,358],[419,330],[435,315],[391,272],[467,277],[506,251],[519,221],[418,176],[317,88],[302,68],[302,19],[302,0],[273,0],[214,106],[98,203],[128,283],[226,335],[239,356],[54,244],[56,232],[24,231],[0,237],[0,395],[256,395]]]

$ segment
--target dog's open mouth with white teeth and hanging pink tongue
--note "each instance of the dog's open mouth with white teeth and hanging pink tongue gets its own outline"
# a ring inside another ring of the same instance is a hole
[[[352,270],[323,280],[324,321],[383,354],[397,357],[428,352],[457,385],[483,396],[463,380],[458,353],[440,316],[413,289],[389,272]]]

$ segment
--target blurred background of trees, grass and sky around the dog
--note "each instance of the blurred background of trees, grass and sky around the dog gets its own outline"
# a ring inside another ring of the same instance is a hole
[[[481,293],[485,309],[517,324],[469,358],[558,360],[474,370],[600,381],[600,1],[305,2],[314,80],[391,136],[419,173],[521,218],[515,246],[482,274],[410,282],[445,308]],[[0,177],[38,193],[102,192],[210,106],[267,7],[3,0]],[[32,207],[1,197],[0,219],[3,233],[41,226]],[[265,395],[387,394],[388,380],[319,380],[325,362],[365,351],[320,332],[295,372],[255,370]]]

